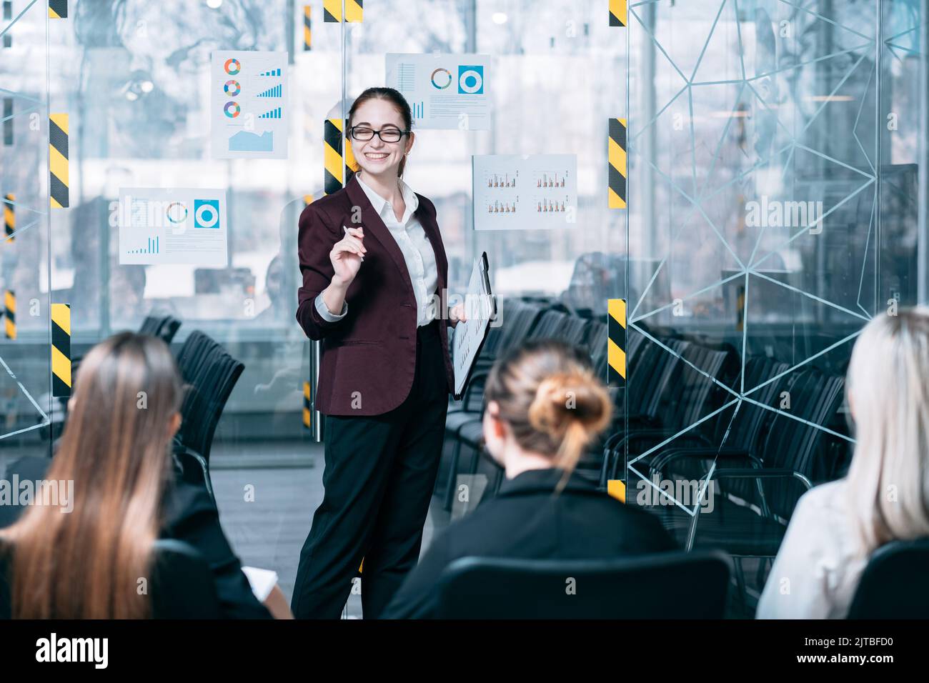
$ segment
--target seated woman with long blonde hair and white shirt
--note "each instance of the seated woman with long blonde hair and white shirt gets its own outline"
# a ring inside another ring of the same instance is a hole
[[[855,454],[793,510],[759,619],[842,619],[871,555],[929,536],[929,309],[869,322],[845,387]]]

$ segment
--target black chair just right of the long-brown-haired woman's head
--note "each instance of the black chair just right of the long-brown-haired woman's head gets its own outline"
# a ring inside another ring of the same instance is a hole
[[[181,407],[182,423],[175,439],[174,453],[185,478],[200,483],[196,468],[190,466],[191,458],[196,461],[202,470],[203,484],[212,497],[209,463],[213,436],[229,394],[245,365],[232,358],[208,335],[195,330],[177,353],[177,368],[187,391]]]

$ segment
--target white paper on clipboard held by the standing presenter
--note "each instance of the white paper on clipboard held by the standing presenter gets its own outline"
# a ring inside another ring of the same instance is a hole
[[[454,327],[451,338],[451,366],[455,374],[455,399],[460,399],[467,386],[468,376],[478,360],[494,314],[491,276],[488,271],[487,252],[475,259],[467,293],[464,296],[464,311],[467,320]]]

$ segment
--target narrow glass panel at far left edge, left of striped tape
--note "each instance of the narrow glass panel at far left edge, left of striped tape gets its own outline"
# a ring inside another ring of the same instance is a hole
[[[62,415],[60,401],[52,397],[50,322],[52,302],[63,300],[50,287],[49,247],[68,210],[53,208],[50,200],[49,113],[56,115],[56,125],[67,123],[57,116],[64,111],[62,101],[48,88],[57,48],[47,39],[46,8],[40,4],[33,11],[30,5],[3,3],[0,15],[0,472],[22,455],[46,456]],[[67,140],[57,133],[55,143],[54,168],[61,174]],[[58,185],[55,190],[62,199]]]

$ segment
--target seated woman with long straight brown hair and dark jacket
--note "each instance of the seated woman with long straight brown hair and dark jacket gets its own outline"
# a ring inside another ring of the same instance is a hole
[[[86,355],[78,379],[45,475],[72,482],[73,496],[67,507],[33,504],[0,530],[0,618],[171,616],[139,590],[159,537],[186,541],[202,555],[224,616],[268,618],[205,490],[173,480],[182,387],[164,342],[111,336]],[[159,586],[173,588],[182,586]],[[266,604],[286,615],[276,590]]]

